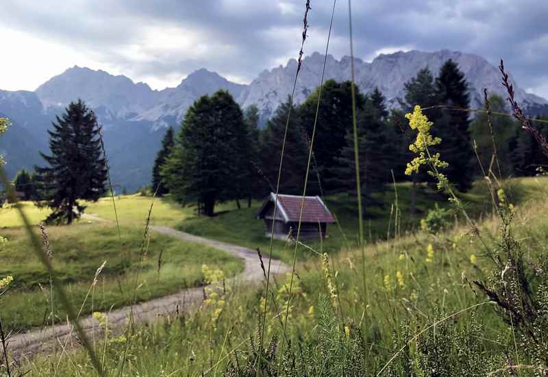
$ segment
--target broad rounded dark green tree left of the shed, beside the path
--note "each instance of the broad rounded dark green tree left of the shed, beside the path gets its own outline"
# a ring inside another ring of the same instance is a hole
[[[214,215],[216,203],[240,195],[246,128],[242,110],[219,90],[201,96],[182,120],[175,145],[161,168],[164,183],[183,205],[197,203],[199,213]]]

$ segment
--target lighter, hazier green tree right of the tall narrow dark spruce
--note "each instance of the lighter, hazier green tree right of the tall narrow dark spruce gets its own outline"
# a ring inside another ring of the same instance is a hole
[[[493,94],[489,97],[490,109],[495,112],[506,112],[506,104],[504,99],[497,94]],[[493,136],[491,135],[491,129],[488,124],[487,114],[479,114],[470,125],[470,132],[473,141],[477,146],[477,155],[479,161],[487,172],[491,164],[491,158],[495,148],[493,146],[493,137],[495,138],[495,146],[497,147],[497,160],[493,161],[493,172],[501,174],[503,177],[509,177],[514,173],[512,166],[512,158],[510,155],[510,143],[515,142],[516,133],[518,132],[519,125],[515,120],[508,116],[501,116],[493,114],[491,118],[491,126],[493,127]],[[476,174],[483,174],[481,166],[479,164],[473,164],[476,166]],[[500,167],[500,172],[499,172]],[[499,177],[501,178],[501,177]]]

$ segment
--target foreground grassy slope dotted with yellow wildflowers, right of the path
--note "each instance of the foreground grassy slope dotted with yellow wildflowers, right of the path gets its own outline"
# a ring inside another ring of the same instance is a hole
[[[508,192],[520,198],[512,234],[526,264],[543,263],[548,252],[546,183],[546,178],[520,179],[507,185]],[[484,197],[479,185],[475,190],[474,195]],[[341,368],[356,376],[381,370],[383,376],[484,376],[507,365],[509,357],[514,363],[536,365],[534,351],[526,343],[515,346],[519,339],[526,339],[519,328],[503,321],[496,305],[472,283],[496,281],[500,276],[499,272],[493,275],[496,269],[490,252],[503,257],[501,220],[492,216],[488,204],[486,209],[476,216],[478,235],[464,222],[453,222],[441,233],[414,231],[370,243],[364,250],[365,265],[356,248],[327,259],[309,255],[299,261],[289,306],[290,277],[273,283],[275,304],[269,304],[266,316],[264,368],[276,374],[279,367],[283,375],[299,376],[338,376],[343,374]],[[223,218],[227,219],[223,222],[247,219],[240,213],[253,210],[190,221],[218,224]],[[223,228],[212,236],[225,237]],[[128,358],[123,375],[254,376],[264,287],[236,288],[225,298],[219,317],[213,305],[192,317],[136,329],[128,352],[135,356]],[[285,343],[282,350],[286,313],[291,346],[288,349]],[[110,374],[121,372],[124,344],[112,335],[104,352],[102,345],[97,350]],[[53,370],[47,359],[35,359],[32,368],[42,374]],[[84,352],[62,358],[56,372],[93,375]],[[523,370],[519,376],[532,376],[532,372]]]

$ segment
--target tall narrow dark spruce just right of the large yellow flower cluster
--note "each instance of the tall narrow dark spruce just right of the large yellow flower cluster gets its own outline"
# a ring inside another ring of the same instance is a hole
[[[447,60],[440,68],[436,79],[436,97],[440,105],[456,106],[462,109],[470,107],[468,83],[458,65]],[[434,153],[440,153],[449,166],[443,173],[458,190],[466,191],[472,187],[474,152],[470,137],[470,120],[467,112],[447,109],[434,120],[432,135],[442,142]]]

